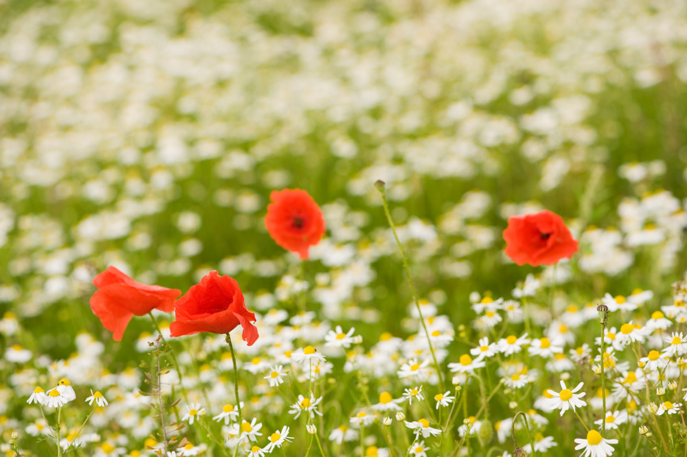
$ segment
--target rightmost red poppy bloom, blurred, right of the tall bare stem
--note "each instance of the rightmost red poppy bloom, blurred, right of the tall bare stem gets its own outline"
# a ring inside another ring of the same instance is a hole
[[[518,265],[553,265],[578,251],[563,218],[547,210],[508,218],[504,239],[506,255]]]

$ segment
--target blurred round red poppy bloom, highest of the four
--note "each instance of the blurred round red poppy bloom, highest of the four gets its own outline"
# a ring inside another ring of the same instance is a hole
[[[301,189],[272,191],[264,225],[282,248],[308,258],[308,248],[324,235],[324,216],[315,200]]]

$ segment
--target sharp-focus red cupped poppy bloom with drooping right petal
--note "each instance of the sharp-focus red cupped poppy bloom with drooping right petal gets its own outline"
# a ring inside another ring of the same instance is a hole
[[[238,283],[216,270],[205,274],[200,283],[174,302],[174,311],[177,320],[170,324],[172,336],[206,331],[229,333],[240,325],[249,346],[258,339],[258,329],[252,324],[256,315],[246,309]]]

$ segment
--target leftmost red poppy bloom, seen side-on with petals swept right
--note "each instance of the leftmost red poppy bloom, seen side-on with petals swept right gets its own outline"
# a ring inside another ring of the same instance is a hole
[[[113,266],[93,278],[93,284],[98,290],[91,297],[91,309],[115,341],[122,340],[133,316],[145,316],[153,309],[172,312],[174,298],[181,294],[178,289],[137,283]]]

